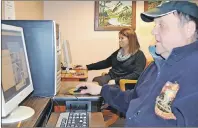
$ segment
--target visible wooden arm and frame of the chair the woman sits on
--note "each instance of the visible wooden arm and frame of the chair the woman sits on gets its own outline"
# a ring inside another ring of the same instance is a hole
[[[147,68],[148,65],[151,64],[152,62],[153,62],[153,59],[147,59],[145,68]],[[102,75],[105,75],[105,74],[107,74],[107,73],[105,73],[105,72],[102,73]],[[126,91],[126,85],[128,87],[131,86],[132,88],[134,88],[135,84],[137,83],[137,80],[121,79],[119,83],[120,83],[120,89],[122,91]],[[103,113],[103,116],[108,117],[108,119],[105,121],[105,126],[106,127],[109,127],[112,124],[114,124],[119,118],[119,114],[118,113],[113,113],[113,112],[111,112],[111,110],[105,110],[104,109],[102,111],[102,113]]]

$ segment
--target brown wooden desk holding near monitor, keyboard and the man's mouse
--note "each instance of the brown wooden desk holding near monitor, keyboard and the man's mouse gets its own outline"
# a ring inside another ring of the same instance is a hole
[[[73,97],[74,99],[76,99],[76,97],[73,95],[67,95],[67,90],[75,87],[78,83],[79,82],[62,82],[60,91],[54,97],[54,99],[58,97],[59,98],[62,97],[64,100],[65,100],[64,97],[67,97],[67,98]],[[80,96],[80,97],[83,97],[83,96]],[[100,98],[100,96],[89,96],[89,97]],[[46,117],[48,117],[48,115],[50,114],[49,112],[51,112],[50,109],[51,109],[52,104],[50,102],[50,98],[28,97],[27,99],[24,100],[24,102],[21,105],[29,106],[33,108],[35,110],[35,114],[31,118],[25,121],[22,121],[20,127],[45,126],[46,124],[45,122],[47,122]],[[56,113],[56,112],[51,113],[51,116],[47,122],[47,127],[55,127],[59,114],[60,113]],[[93,113],[90,113],[89,117],[90,117],[89,119],[90,127],[104,127],[105,126],[102,113],[93,112]],[[17,127],[17,124],[18,123],[6,124],[6,125],[2,125],[2,127],[14,127],[15,128]]]

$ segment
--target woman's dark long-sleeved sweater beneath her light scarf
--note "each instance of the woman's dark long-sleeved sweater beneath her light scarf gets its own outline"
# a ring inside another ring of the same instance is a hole
[[[138,50],[127,60],[118,61],[118,51],[119,49],[111,54],[111,56],[109,56],[106,60],[87,65],[87,69],[100,70],[112,67],[108,74],[117,84],[119,84],[120,79],[137,80],[146,65],[146,57],[144,56],[144,53],[141,50]]]

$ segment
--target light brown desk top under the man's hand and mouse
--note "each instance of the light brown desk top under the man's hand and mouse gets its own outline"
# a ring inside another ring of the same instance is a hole
[[[86,98],[89,98],[90,100],[93,99],[99,99],[101,98],[101,96],[92,96],[92,95],[71,95],[68,93],[68,91],[72,88],[75,88],[76,85],[78,85],[79,81],[62,81],[61,82],[61,87],[60,87],[60,90],[59,92],[57,93],[57,95],[54,97],[55,99],[84,99],[85,97]]]

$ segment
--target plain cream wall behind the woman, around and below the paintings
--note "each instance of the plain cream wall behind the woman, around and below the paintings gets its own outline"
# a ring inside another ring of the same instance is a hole
[[[137,2],[136,32],[145,55],[152,42],[152,25],[141,21],[144,2]],[[94,31],[94,1],[44,1],[44,19],[60,24],[61,35],[70,42],[73,64],[89,64],[106,59],[118,49],[118,31]],[[103,71],[89,71],[89,79]]]

